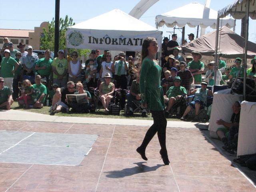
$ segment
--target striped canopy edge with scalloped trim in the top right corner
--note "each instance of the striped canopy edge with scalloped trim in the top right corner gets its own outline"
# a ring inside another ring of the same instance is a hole
[[[220,18],[230,14],[235,19],[242,19],[246,15],[246,0],[235,0],[232,4],[218,11]],[[256,1],[249,0],[249,16],[251,19],[256,19]]]

